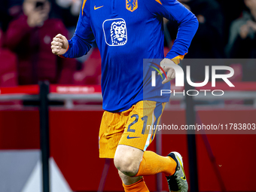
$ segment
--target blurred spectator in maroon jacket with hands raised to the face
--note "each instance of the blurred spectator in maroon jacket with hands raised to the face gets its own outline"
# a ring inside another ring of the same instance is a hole
[[[50,2],[25,0],[23,15],[9,24],[5,44],[18,56],[19,84],[72,84],[76,62],[51,53],[50,41],[57,33],[67,35],[61,20],[50,19]]]

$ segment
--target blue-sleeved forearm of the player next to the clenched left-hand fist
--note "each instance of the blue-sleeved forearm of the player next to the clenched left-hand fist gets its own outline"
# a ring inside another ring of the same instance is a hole
[[[92,47],[93,41],[87,41],[82,38],[79,38],[78,35],[69,40],[69,49],[62,56],[66,58],[76,58],[84,56],[88,53]]]

